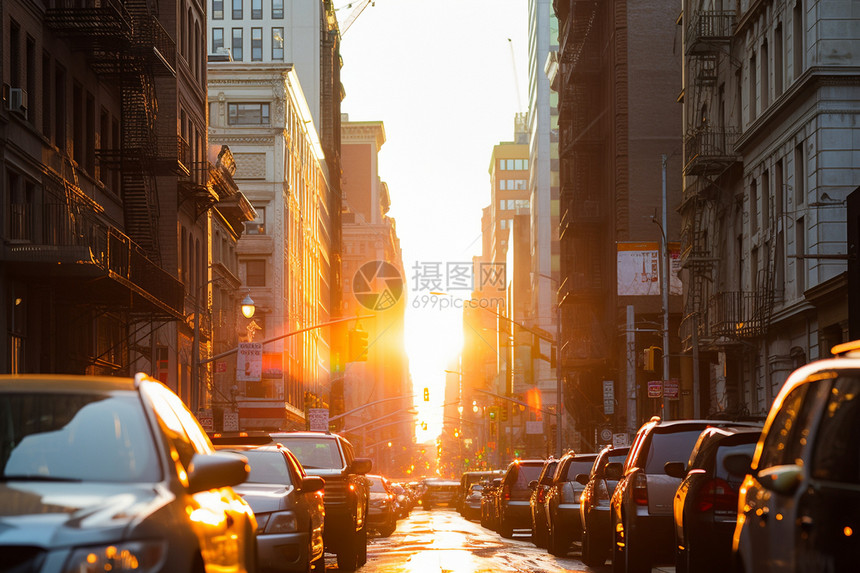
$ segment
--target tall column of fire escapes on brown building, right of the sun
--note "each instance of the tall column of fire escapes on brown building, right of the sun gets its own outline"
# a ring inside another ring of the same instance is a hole
[[[568,379],[568,409],[586,435],[597,420],[594,381],[603,376],[610,348],[601,325],[606,323],[605,268],[607,216],[606,138],[608,104],[601,73],[601,37],[596,20],[600,5],[593,1],[557,3],[559,34],[559,157],[560,220],[563,293],[560,366]],[[571,408],[573,406],[573,408]]]

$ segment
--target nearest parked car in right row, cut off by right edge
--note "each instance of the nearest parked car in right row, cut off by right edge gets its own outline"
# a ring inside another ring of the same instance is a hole
[[[736,571],[857,570],[860,341],[832,352],[793,372],[771,406],[740,490]]]

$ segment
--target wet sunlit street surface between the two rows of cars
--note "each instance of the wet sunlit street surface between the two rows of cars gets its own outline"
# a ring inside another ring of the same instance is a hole
[[[574,549],[559,559],[535,547],[529,534],[504,539],[498,533],[467,521],[447,509],[414,510],[397,524],[390,537],[374,537],[367,548],[367,564],[362,573],[554,573],[587,571],[610,573],[612,565],[590,568],[577,558]],[[337,571],[334,556],[326,556],[326,571]],[[674,571],[659,568],[655,573]]]

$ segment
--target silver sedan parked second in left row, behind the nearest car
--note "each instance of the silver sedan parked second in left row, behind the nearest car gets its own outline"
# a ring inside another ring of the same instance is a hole
[[[323,571],[322,490],[285,447],[233,447],[248,458],[248,480],[235,487],[257,518],[257,571]]]

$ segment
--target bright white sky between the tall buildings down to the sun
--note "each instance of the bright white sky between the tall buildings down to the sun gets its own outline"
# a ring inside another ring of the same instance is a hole
[[[359,3],[336,0],[341,26]],[[494,145],[513,139],[514,114],[528,104],[528,2],[374,4],[343,36],[342,111],[352,121],[385,124],[379,173],[391,193],[389,215],[397,220],[408,274],[406,347],[419,418],[428,425],[418,433],[423,442],[441,431],[445,369],[462,344],[462,310],[452,308],[452,296],[469,293],[431,295],[417,288],[415,266],[426,277],[429,263],[445,269],[481,252],[490,155]],[[429,404],[420,397],[425,387]]]

